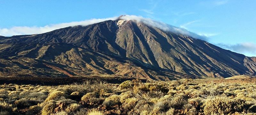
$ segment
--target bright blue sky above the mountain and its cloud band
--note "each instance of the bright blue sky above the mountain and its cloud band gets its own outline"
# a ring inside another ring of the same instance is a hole
[[[31,34],[37,33],[31,28],[137,15],[207,36],[208,42],[222,48],[256,56],[255,4],[255,0],[0,0],[0,35]]]

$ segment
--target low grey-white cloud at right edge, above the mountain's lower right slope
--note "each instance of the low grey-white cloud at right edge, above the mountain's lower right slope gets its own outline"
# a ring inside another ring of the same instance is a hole
[[[237,53],[241,54],[250,54],[252,56],[256,56],[256,44],[245,42],[235,45],[228,45],[228,44],[217,44],[217,46],[220,46],[224,49],[228,49]]]

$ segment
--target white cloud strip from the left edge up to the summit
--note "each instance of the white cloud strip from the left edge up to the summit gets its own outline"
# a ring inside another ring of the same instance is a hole
[[[50,32],[50,31],[60,29],[60,28],[64,28],[64,27],[68,27],[68,26],[91,25],[91,24],[102,22],[102,21],[105,21],[105,20],[115,20],[116,18],[117,17],[102,18],[102,19],[90,19],[90,20],[77,21],[77,22],[45,25],[45,26],[42,26],[42,27],[38,27],[38,26],[31,26],[31,27],[28,27],[28,26],[14,26],[12,28],[0,28],[0,35],[2,35],[2,36],[13,36],[13,35],[45,33],[45,32]]]

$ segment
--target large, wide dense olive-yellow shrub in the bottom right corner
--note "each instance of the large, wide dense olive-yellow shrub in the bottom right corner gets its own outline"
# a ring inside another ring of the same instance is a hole
[[[245,101],[241,99],[230,99],[217,97],[207,100],[204,106],[205,114],[229,114],[236,111],[241,112],[244,109]]]

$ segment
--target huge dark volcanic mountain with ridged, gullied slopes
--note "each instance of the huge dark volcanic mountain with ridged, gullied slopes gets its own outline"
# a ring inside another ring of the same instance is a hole
[[[121,18],[43,34],[0,37],[0,60],[0,76],[172,80],[256,74],[253,58]]]

